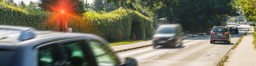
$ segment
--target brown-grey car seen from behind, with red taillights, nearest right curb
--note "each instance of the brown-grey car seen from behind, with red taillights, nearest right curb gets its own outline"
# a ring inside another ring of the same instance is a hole
[[[231,42],[228,27],[213,27],[210,35],[210,43],[212,44],[215,42],[225,42],[227,44]]]

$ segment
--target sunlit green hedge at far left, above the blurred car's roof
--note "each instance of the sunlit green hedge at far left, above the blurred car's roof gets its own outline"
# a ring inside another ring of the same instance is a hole
[[[39,27],[51,13],[26,11],[0,2],[0,24]]]

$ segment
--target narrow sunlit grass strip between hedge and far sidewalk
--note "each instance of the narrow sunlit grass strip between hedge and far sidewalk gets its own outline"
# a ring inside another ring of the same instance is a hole
[[[137,42],[143,42],[138,40],[124,40],[124,41],[116,41],[116,42],[110,42],[108,46],[117,46],[117,45],[125,45],[125,44],[132,44]]]

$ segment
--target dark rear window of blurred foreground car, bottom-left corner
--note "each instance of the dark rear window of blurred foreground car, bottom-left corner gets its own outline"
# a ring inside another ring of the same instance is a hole
[[[0,66],[11,66],[15,51],[0,49]]]

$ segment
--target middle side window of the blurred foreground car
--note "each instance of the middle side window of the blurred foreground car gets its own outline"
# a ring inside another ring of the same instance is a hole
[[[85,39],[72,39],[59,43],[65,66],[96,66],[93,54]]]

